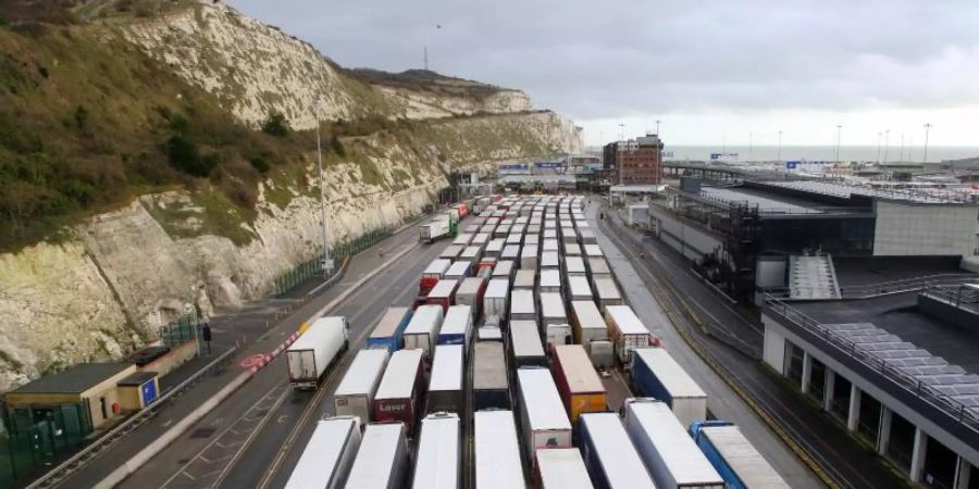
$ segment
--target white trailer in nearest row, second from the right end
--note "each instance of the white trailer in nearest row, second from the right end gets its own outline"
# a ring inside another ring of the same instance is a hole
[[[625,431],[658,487],[724,489],[720,474],[665,402],[625,400]]]

